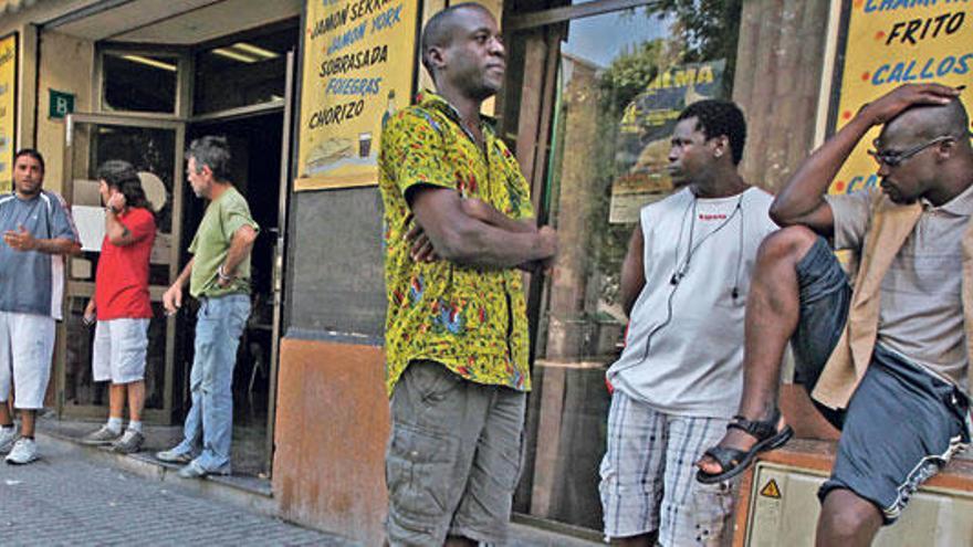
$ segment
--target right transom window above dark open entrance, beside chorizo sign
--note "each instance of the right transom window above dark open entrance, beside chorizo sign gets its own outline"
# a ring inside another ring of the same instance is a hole
[[[193,114],[283,101],[287,51],[299,30],[221,41],[196,53]]]

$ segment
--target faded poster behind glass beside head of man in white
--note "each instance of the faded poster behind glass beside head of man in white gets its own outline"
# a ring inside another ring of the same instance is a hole
[[[638,221],[642,207],[672,191],[669,141],[676,118],[692,103],[719,97],[725,65],[718,60],[665,70],[625,107],[616,152],[620,175],[611,182],[609,223]]]

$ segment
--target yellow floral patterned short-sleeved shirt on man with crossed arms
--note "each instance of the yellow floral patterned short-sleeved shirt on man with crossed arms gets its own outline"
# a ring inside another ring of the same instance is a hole
[[[481,123],[484,157],[442,97],[426,92],[418,102],[388,120],[378,159],[385,204],[388,395],[409,362],[421,359],[440,362],[470,381],[529,391],[527,316],[520,272],[442,260],[414,262],[405,240],[410,212],[405,196],[416,186],[449,188],[521,220],[534,215],[530,188],[488,119]]]

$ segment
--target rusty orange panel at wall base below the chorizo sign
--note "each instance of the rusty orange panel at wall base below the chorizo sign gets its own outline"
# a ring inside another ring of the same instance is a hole
[[[383,349],[284,338],[278,382],[281,516],[379,545],[389,431]]]

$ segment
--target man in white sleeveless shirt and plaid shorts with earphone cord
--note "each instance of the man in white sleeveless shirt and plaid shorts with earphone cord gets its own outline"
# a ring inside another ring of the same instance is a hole
[[[695,462],[719,440],[743,386],[743,312],[773,197],[736,166],[746,124],[726,101],[679,116],[670,171],[684,186],[642,208],[621,271],[629,332],[601,462],[605,536],[620,545],[719,545],[729,483],[701,484]]]

